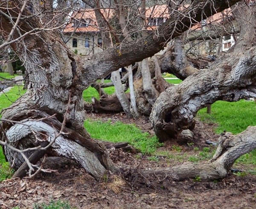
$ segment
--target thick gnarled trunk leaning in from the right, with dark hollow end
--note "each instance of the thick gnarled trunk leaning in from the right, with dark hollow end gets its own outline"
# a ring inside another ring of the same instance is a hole
[[[177,140],[183,130],[192,130],[196,113],[207,104],[217,100],[233,102],[256,97],[253,24],[256,21],[256,6],[239,6],[241,39],[236,44],[238,48],[215,61],[209,69],[192,74],[177,87],[168,88],[154,104],[150,119],[161,142]],[[252,47],[247,46],[248,38]]]

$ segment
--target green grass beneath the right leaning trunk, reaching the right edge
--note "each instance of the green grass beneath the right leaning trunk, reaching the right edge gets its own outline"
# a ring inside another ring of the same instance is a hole
[[[206,108],[198,111],[198,117],[204,122],[218,123],[216,133],[224,130],[239,134],[249,125],[256,125],[256,103],[246,100],[238,102],[217,101],[212,104],[212,113],[207,114]]]

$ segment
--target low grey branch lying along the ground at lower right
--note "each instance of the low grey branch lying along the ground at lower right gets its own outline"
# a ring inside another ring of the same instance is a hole
[[[172,177],[181,181],[187,178],[200,177],[201,180],[214,180],[227,176],[236,159],[256,149],[256,127],[248,127],[246,131],[232,135],[227,132],[220,136],[219,145],[211,163],[182,164],[172,168],[160,168],[143,171],[145,177]],[[163,179],[162,178],[162,179]]]

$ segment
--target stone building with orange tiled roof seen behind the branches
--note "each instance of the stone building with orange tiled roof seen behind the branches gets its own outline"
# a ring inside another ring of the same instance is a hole
[[[188,8],[189,5],[184,5],[180,7],[180,10]],[[102,9],[102,14],[105,18],[109,20],[114,15],[113,9]],[[154,5],[146,9],[145,16],[147,21],[147,30],[155,30],[157,26],[164,23],[170,16],[168,7],[166,5]],[[190,34],[193,32],[207,32],[212,30],[212,27],[223,26],[225,21],[230,20],[231,9],[226,9],[223,12],[217,13],[208,17],[200,23],[196,23],[189,30]],[[103,43],[100,33],[100,28],[96,20],[96,15],[93,9],[81,9],[79,11],[73,12],[70,15],[68,24],[63,29],[64,41],[67,42],[67,46],[73,51],[81,55],[91,55],[101,52]],[[196,40],[194,41],[196,42]],[[213,47],[212,41],[206,41],[202,43],[198,41],[198,53],[197,54],[208,54],[209,51],[216,51],[216,44]],[[217,42],[216,42],[217,43]],[[226,35],[222,39],[222,51],[227,51],[234,44],[234,39],[232,35]],[[191,43],[187,44],[188,49]]]

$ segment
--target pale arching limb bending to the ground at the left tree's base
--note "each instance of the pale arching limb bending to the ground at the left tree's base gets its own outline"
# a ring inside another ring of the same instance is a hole
[[[26,119],[27,117],[29,119]],[[41,141],[53,142],[46,154],[74,159],[97,179],[101,178],[107,170],[118,171],[109,159],[108,152],[101,142],[88,136],[82,136],[66,127],[61,131],[62,134],[57,135],[56,133],[61,130],[62,124],[55,117],[49,117],[46,113],[38,110],[28,110],[14,116],[12,121],[19,122],[15,125],[4,122],[3,128],[7,130],[6,136],[10,140],[9,144],[15,148],[24,150],[27,146],[39,146],[40,139]],[[35,135],[38,139],[35,138]],[[25,154],[29,157],[33,152],[27,151]],[[24,160],[9,146],[5,146],[5,155],[9,162],[14,161],[15,169],[23,164]]]

